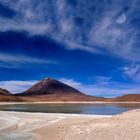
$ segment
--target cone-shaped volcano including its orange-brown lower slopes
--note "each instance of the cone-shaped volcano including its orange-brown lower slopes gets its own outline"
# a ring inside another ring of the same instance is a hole
[[[103,101],[104,98],[86,95],[53,78],[46,78],[27,91],[18,94],[31,101]]]

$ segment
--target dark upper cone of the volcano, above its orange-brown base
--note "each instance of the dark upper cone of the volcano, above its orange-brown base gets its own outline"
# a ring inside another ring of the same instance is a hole
[[[22,95],[49,95],[49,94],[79,94],[80,91],[52,78],[41,80],[30,89],[23,92]]]

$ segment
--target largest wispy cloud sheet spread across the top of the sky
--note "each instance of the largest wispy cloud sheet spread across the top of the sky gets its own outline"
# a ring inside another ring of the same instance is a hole
[[[0,31],[46,35],[65,44],[67,49],[92,53],[102,53],[103,49],[109,55],[140,61],[140,49],[135,47],[139,31],[131,23],[135,8],[139,8],[138,0],[103,4],[86,0],[74,4],[69,0],[0,2],[16,12],[13,18],[0,18]]]

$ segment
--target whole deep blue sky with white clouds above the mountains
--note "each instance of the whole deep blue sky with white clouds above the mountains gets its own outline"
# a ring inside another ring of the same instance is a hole
[[[139,0],[0,0],[0,87],[52,77],[103,97],[140,93]]]

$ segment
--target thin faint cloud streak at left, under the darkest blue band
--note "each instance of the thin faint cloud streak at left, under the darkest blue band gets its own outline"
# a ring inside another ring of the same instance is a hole
[[[0,53],[0,67],[3,68],[21,68],[27,64],[56,64],[53,60],[46,60],[36,57],[30,57],[25,55],[11,55],[6,53]]]

